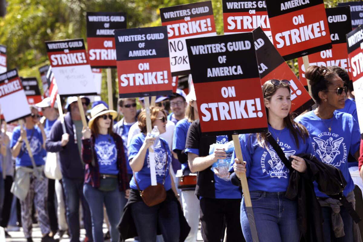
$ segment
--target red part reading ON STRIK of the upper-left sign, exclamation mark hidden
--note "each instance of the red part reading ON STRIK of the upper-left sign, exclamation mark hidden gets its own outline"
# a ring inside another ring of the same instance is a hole
[[[116,67],[115,38],[87,38],[88,59],[91,66]]]

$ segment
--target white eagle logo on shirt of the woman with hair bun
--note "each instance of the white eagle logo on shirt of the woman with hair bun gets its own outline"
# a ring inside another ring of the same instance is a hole
[[[322,138],[322,136],[334,136],[334,138],[338,138],[339,135],[332,134],[330,132],[323,132],[318,135],[318,137]],[[334,139],[333,137],[329,137],[328,139],[320,139],[318,137],[314,137],[313,140],[318,144],[318,147],[314,147],[316,153],[319,155],[319,158],[326,164],[331,164],[334,166],[340,166],[342,163],[345,163],[347,158],[347,148],[343,143],[344,138],[340,137],[338,139]],[[315,146],[315,144],[313,144]],[[340,147],[343,147],[343,159],[339,161],[334,161],[335,158],[340,155],[341,150]]]

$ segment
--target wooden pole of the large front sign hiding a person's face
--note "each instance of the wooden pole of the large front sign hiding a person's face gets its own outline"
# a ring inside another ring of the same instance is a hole
[[[238,138],[238,135],[232,135],[232,139],[233,139],[234,152],[236,153],[236,157],[237,157],[238,160],[243,162],[240,139]],[[247,212],[247,216],[248,216],[248,222],[249,222],[250,229],[251,229],[252,241],[253,242],[258,242],[256,223],[254,222],[252,202],[251,202],[251,197],[250,197],[250,194],[249,194],[246,173],[240,173],[239,176],[241,177],[243,197],[244,197],[244,200],[245,200],[246,212]]]

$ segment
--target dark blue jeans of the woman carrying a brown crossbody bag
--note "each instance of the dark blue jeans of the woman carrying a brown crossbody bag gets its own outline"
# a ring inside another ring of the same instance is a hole
[[[140,200],[131,204],[139,240],[156,241],[156,227],[159,226],[164,241],[178,242],[180,234],[178,204],[174,200],[165,200],[161,204],[149,207]]]

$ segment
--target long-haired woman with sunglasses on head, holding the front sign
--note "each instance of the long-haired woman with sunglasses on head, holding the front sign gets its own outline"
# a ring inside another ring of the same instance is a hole
[[[285,197],[289,185],[289,169],[268,141],[276,140],[286,158],[293,158],[291,167],[305,172],[302,153],[313,153],[309,134],[304,126],[295,123],[290,114],[290,83],[270,80],[262,86],[268,118],[268,133],[240,135],[244,162],[234,159],[231,181],[241,185],[240,173],[246,173],[260,242],[298,242],[301,237],[297,221],[297,200]],[[233,153],[232,158],[236,158]],[[232,165],[231,164],[231,165]],[[241,202],[241,226],[247,242],[252,242],[244,198]]]

